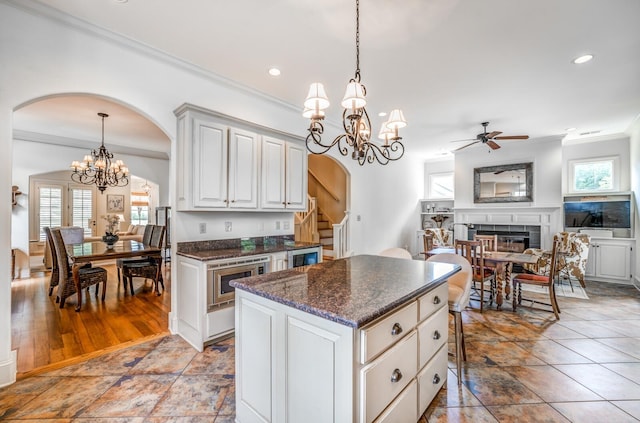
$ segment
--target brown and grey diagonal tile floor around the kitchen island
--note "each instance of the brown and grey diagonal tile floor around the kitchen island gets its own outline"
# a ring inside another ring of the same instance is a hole
[[[590,282],[587,293],[559,298],[559,322],[527,308],[465,312],[464,384],[450,357],[420,423],[640,421],[640,292]],[[197,353],[168,336],[0,389],[0,419],[222,423],[234,401],[232,339]]]

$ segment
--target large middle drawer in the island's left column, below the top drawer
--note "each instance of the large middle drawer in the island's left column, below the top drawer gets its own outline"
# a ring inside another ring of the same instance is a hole
[[[417,355],[418,333],[414,330],[360,371],[360,415],[364,421],[372,422],[415,377]]]

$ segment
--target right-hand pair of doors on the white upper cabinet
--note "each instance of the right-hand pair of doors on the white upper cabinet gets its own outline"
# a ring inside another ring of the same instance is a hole
[[[263,209],[305,210],[307,207],[307,152],[304,145],[263,137]]]

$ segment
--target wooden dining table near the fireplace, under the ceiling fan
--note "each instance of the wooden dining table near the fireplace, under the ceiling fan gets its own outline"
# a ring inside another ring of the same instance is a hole
[[[455,254],[453,247],[436,247],[427,252],[428,256],[436,254]],[[504,303],[503,291],[507,299],[511,293],[511,270],[514,264],[536,264],[538,257],[533,254],[516,253],[512,251],[485,251],[484,260],[495,266],[496,274],[496,308],[500,310]]]

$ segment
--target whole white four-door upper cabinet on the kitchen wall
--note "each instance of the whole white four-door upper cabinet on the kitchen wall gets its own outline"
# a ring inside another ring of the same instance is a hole
[[[301,138],[188,104],[175,113],[178,210],[306,208]]]

